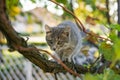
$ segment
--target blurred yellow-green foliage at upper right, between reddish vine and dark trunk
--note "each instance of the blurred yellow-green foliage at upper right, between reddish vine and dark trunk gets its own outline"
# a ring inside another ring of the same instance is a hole
[[[83,20],[86,20],[88,16],[92,17],[94,24],[96,22],[106,23],[106,9],[102,8],[98,3],[104,5],[105,0],[78,0],[79,7],[75,9],[75,13]]]

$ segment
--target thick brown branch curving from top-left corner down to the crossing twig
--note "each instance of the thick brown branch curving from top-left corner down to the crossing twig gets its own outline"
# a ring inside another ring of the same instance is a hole
[[[7,39],[8,46],[12,50],[17,50],[24,57],[29,59],[31,62],[39,66],[46,72],[63,72],[65,71],[61,65],[56,64],[55,62],[51,62],[49,60],[44,59],[38,51],[29,50],[24,51],[22,48],[35,48],[34,46],[27,45],[27,42],[20,37],[17,32],[13,29],[10,20],[6,14],[6,5],[5,0],[0,0],[0,31],[5,35]],[[55,68],[55,66],[57,68]]]

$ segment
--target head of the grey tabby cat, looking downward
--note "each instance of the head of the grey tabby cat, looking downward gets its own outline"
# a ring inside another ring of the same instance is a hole
[[[50,48],[59,51],[69,43],[70,27],[49,27],[45,25],[46,41]]]

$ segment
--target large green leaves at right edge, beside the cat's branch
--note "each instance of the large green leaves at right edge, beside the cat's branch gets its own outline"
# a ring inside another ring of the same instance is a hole
[[[104,55],[104,57],[112,62],[116,62],[120,60],[120,38],[117,36],[117,31],[119,31],[120,25],[113,25],[109,26],[110,31],[109,38],[112,42],[102,42],[99,47],[100,53]]]

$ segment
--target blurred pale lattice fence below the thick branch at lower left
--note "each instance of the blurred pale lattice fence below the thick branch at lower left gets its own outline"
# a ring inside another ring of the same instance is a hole
[[[2,51],[4,63],[0,63],[0,80],[55,80],[53,73],[45,73],[17,52]],[[58,80],[80,80],[70,73],[57,74]]]

